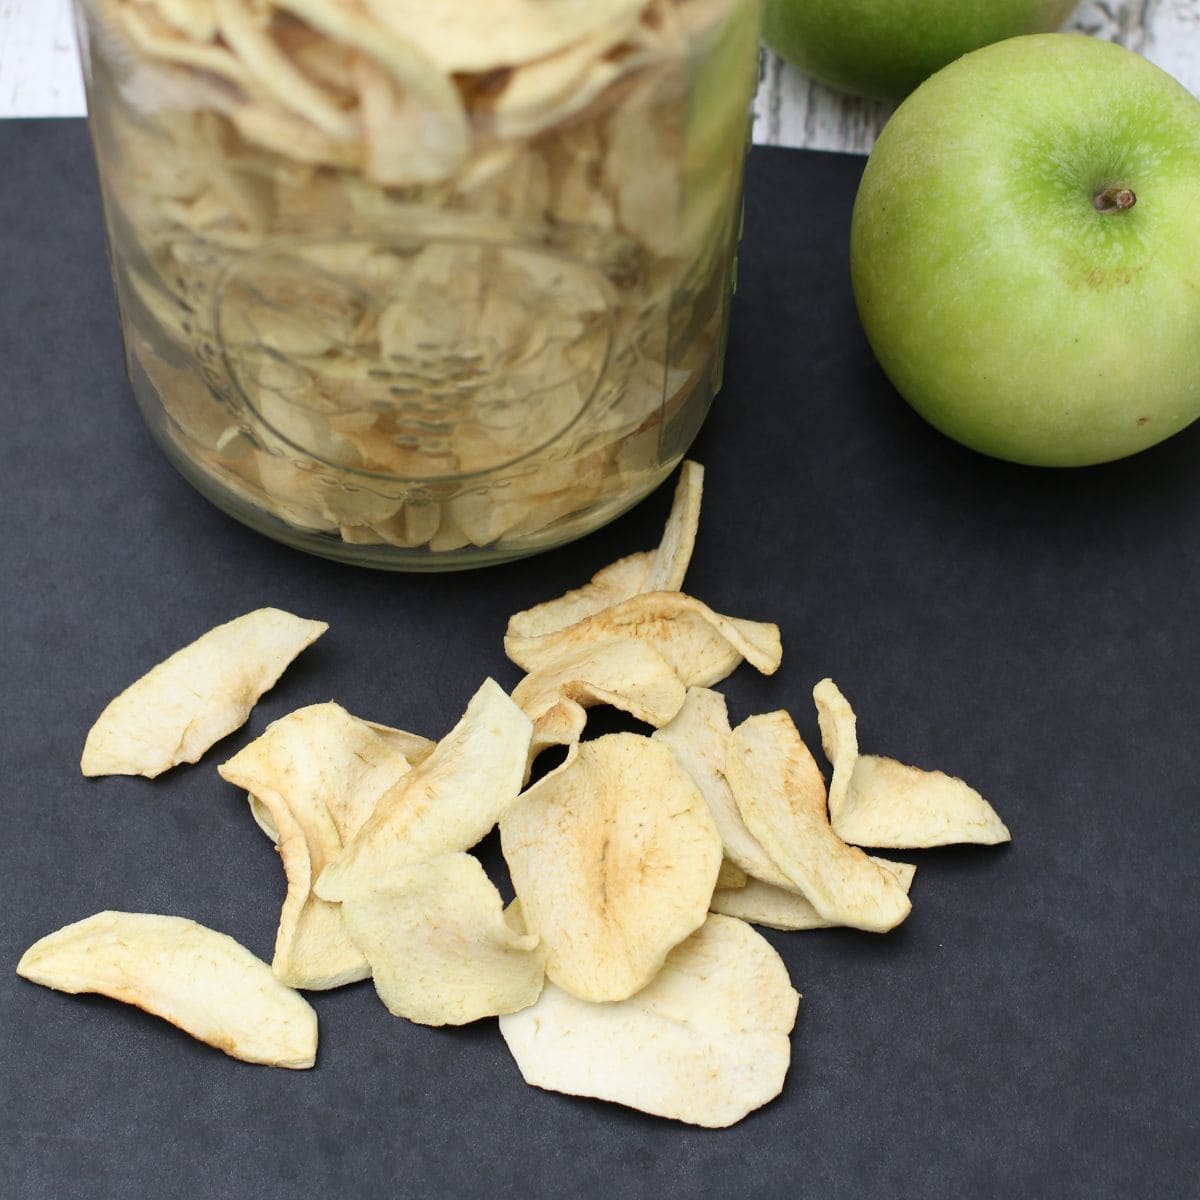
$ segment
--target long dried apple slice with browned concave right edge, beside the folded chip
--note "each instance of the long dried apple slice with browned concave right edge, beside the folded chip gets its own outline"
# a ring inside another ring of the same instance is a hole
[[[833,832],[824,780],[787,713],[743,721],[725,774],[746,828],[821,917],[882,934],[908,916],[896,877]]]

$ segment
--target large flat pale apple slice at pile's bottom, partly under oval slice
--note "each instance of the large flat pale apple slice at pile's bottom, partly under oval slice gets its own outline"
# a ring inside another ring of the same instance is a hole
[[[712,916],[635,996],[595,1004],[547,984],[500,1033],[534,1087],[722,1128],[782,1090],[798,1007],[766,938]]]

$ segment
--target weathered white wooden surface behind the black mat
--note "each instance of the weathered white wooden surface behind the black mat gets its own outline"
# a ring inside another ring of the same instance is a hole
[[[1081,0],[1067,28],[1145,54],[1200,95],[1200,0]],[[83,112],[70,0],[0,0],[0,118]],[[865,154],[888,113],[768,56],[755,140]]]

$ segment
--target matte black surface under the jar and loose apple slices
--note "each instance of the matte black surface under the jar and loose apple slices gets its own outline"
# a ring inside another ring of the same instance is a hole
[[[83,125],[2,122],[0,162],[0,1195],[1196,1195],[1200,428],[1072,473],[928,428],[854,317],[858,158],[751,155],[689,590],[782,626],[779,674],[725,685],[734,720],[787,707],[816,744],[832,674],[864,749],[964,775],[1014,841],[914,854],[889,936],[768,935],[804,992],[779,1100],[706,1132],[538,1092],[494,1024],[415,1027],[370,984],[313,997],[314,1070],[268,1070],[18,979],[30,942],[106,907],[269,959],[282,871],[215,764],[326,698],[444,732],[485,674],[518,678],[506,614],[653,545],[670,488],[481,574],[274,545],[140,425]],[[247,728],[156,782],[79,775],[109,697],[265,604],[332,628]]]

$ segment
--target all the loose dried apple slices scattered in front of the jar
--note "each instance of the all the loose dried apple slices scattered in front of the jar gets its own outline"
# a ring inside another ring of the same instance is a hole
[[[911,911],[914,868],[860,847],[1009,834],[961,780],[859,755],[830,679],[812,691],[828,787],[786,712],[731,727],[714,684],[743,661],[773,673],[782,652],[776,625],[682,590],[702,486],[684,463],[655,550],[516,613],[504,644],[527,673],[511,695],[485,679],[439,740],[330,702],[218,767],[283,863],[270,967],[178,917],[100,913],[42,938],[19,973],[284,1067],[316,1060],[296,989],[370,977],[410,1021],[498,1016],[539,1087],[709,1127],[778,1096],[799,996],[751,925],[886,932]],[[260,610],[204,635],[109,704],[84,773],[194,762],[324,628]],[[595,706],[650,730],[589,737]],[[497,827],[508,906],[469,853]]]

